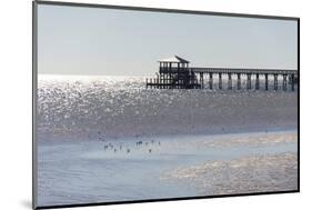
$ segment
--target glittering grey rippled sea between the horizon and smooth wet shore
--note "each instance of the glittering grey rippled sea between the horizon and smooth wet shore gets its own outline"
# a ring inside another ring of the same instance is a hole
[[[294,129],[296,97],[290,90],[145,89],[140,77],[39,76],[39,141]]]

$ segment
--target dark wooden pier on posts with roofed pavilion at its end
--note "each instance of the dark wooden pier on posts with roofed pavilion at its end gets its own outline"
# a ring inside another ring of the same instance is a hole
[[[168,59],[159,60],[159,72],[157,78],[147,79],[147,88],[155,89],[203,89],[204,74],[209,74],[209,89],[213,89],[213,76],[219,78],[219,89],[223,89],[222,77],[228,76],[229,90],[233,89],[232,78],[236,78],[236,89],[242,89],[242,78],[246,80],[246,89],[253,89],[252,80],[254,80],[254,89],[260,89],[260,79],[264,79],[264,89],[269,90],[269,80],[273,78],[274,90],[278,90],[279,77],[282,77],[282,89],[294,90],[298,83],[298,71],[285,69],[245,69],[245,68],[197,68],[189,67],[190,61],[173,56]],[[199,77],[199,80],[198,80]]]

